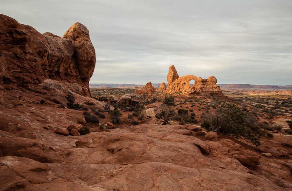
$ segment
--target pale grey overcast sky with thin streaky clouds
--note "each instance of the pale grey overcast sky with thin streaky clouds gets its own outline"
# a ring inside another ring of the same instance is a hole
[[[96,50],[90,83],[292,84],[291,0],[1,0],[0,14],[62,36],[85,25]]]

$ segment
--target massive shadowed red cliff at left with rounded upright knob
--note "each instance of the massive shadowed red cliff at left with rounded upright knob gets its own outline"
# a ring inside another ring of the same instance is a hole
[[[0,89],[33,89],[46,79],[76,83],[75,93],[91,96],[89,79],[95,67],[87,28],[75,23],[61,38],[0,15]]]

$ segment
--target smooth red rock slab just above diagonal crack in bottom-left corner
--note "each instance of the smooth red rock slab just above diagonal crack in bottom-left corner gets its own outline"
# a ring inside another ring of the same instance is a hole
[[[47,174],[49,167],[43,163],[18,156],[5,156],[0,158],[0,163],[9,167],[19,176],[33,184],[48,183]]]

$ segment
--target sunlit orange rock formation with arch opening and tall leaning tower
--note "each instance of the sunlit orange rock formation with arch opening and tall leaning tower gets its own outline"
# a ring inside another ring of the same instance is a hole
[[[191,80],[195,80],[193,86],[189,84]],[[167,88],[165,93],[182,92],[185,94],[192,93],[216,93],[221,94],[219,85],[216,85],[217,79],[214,76],[210,76],[207,79],[196,77],[194,75],[186,75],[179,77],[174,65],[169,66],[169,73],[167,75]]]

